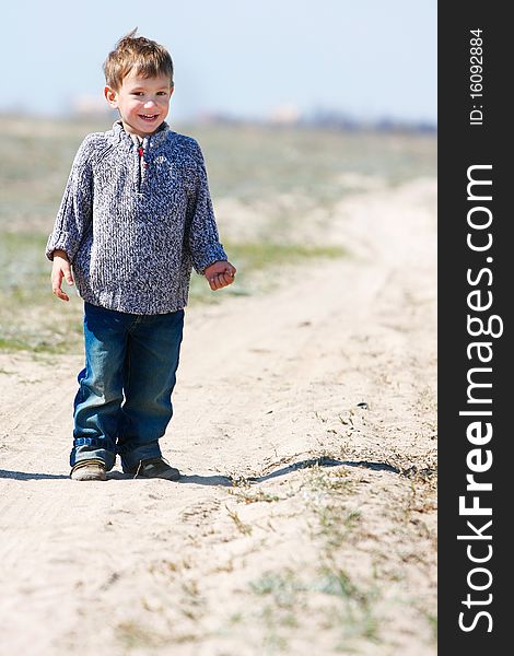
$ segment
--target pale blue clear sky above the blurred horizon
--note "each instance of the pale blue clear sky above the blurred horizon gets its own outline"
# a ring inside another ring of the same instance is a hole
[[[436,11],[436,0],[14,0],[2,7],[0,112],[101,105],[103,61],[138,27],[172,55],[177,120],[435,122]]]

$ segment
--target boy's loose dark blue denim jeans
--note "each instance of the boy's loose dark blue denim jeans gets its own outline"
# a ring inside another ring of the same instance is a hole
[[[101,458],[124,471],[161,456],[172,419],[172,391],[184,311],[133,315],[84,304],[85,368],[74,399],[70,465]]]

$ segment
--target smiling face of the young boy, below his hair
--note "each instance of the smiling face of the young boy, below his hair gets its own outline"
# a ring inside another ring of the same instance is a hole
[[[167,75],[141,78],[132,69],[118,91],[106,86],[104,93],[108,104],[118,109],[125,130],[145,137],[166,118],[173,87]]]

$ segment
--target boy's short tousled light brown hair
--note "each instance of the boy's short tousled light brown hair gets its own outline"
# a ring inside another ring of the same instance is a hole
[[[104,62],[105,82],[118,91],[132,69],[143,78],[170,75],[173,86],[173,61],[170,52],[157,43],[136,36],[138,28],[121,37]]]

